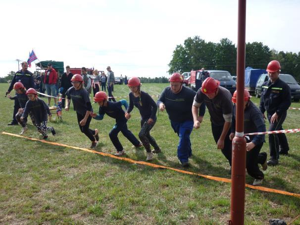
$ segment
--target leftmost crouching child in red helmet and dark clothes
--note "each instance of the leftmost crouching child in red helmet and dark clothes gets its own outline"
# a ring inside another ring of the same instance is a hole
[[[27,118],[24,121],[21,121],[20,118],[22,116],[22,113],[24,112],[25,105],[28,101],[28,97],[26,95],[26,88],[24,87],[24,85],[21,82],[16,82],[13,85],[13,89],[16,91],[16,95],[14,97],[11,97],[10,95],[8,95],[7,97],[11,100],[17,99],[19,101],[21,108],[18,110],[18,112],[15,116],[16,116],[16,120],[18,121],[18,123],[20,123],[22,126],[22,130],[21,130],[20,134],[24,134],[28,130],[28,127],[26,124]],[[35,118],[31,112],[29,112],[29,116],[31,118],[33,125],[36,125]]]

